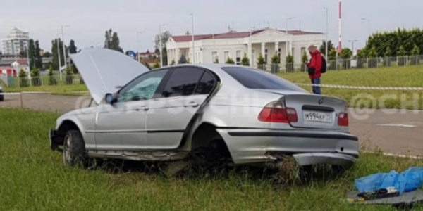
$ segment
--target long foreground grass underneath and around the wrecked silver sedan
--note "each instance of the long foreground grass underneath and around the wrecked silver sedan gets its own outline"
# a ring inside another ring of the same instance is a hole
[[[58,116],[0,108],[0,210],[394,210],[349,205],[345,194],[355,178],[423,165],[364,153],[342,176],[285,187],[245,169],[166,178],[130,167],[68,168],[49,150],[47,132]]]

